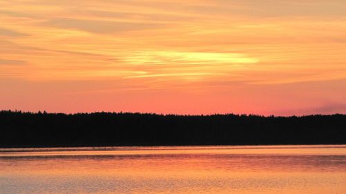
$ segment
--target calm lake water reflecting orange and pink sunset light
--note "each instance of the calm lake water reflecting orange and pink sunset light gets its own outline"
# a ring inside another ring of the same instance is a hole
[[[0,149],[0,193],[346,193],[346,145]]]

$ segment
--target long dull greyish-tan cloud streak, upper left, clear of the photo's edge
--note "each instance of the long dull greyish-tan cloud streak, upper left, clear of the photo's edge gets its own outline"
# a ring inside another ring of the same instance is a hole
[[[53,26],[57,28],[70,28],[83,30],[93,33],[113,33],[127,32],[133,30],[146,30],[162,27],[161,23],[132,23],[121,21],[104,21],[104,20],[88,20],[88,19],[69,19],[58,18],[51,19],[42,23],[44,26]]]

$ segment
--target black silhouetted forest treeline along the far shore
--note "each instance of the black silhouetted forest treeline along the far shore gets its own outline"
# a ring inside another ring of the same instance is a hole
[[[0,147],[346,144],[346,115],[0,111]]]

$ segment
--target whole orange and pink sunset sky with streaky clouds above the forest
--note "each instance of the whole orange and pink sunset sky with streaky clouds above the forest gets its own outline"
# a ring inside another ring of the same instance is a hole
[[[345,0],[1,0],[0,109],[346,113],[345,10]]]

